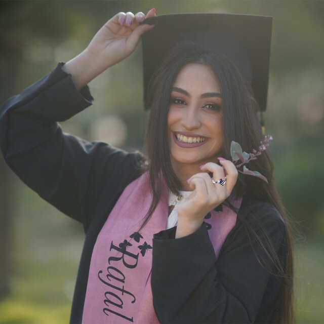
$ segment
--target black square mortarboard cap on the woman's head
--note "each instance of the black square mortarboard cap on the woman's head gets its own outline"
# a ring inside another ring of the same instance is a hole
[[[272,17],[185,13],[149,17],[155,25],[142,34],[144,98],[154,69],[183,40],[226,55],[250,80],[260,110],[266,110]],[[144,102],[145,109],[148,109]]]

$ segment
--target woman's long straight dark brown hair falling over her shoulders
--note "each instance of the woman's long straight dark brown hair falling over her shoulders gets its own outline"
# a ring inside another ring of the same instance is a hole
[[[178,43],[156,68],[146,92],[145,101],[148,107],[150,107],[150,117],[144,141],[147,157],[143,155],[141,169],[143,173],[149,172],[153,199],[138,231],[147,223],[158,204],[161,195],[161,175],[163,175],[168,188],[173,193],[179,194],[179,190],[182,187],[171,165],[167,116],[170,106],[171,88],[180,69],[188,63],[198,63],[211,67],[218,80],[222,93],[224,140],[221,156],[231,160],[231,141],[238,142],[242,150],[252,152],[253,149],[258,150],[260,141],[264,140],[258,117],[259,106],[245,73],[224,55],[207,51],[190,41]],[[280,291],[272,305],[271,322],[294,323],[292,234],[295,232],[295,226],[289,219],[290,215],[282,204],[276,190],[273,178],[273,163],[268,152],[263,151],[257,159],[251,160],[249,162],[249,169],[260,172],[267,178],[268,183],[256,177],[238,173],[231,197],[237,199],[245,196],[247,199],[267,201],[276,207],[284,219],[286,224],[287,254],[285,264],[282,265],[271,244],[269,243],[269,247],[266,247],[262,243],[263,241],[270,242],[267,233],[262,231],[264,236],[260,237],[255,230],[256,227],[253,225],[253,222],[261,228],[262,223],[253,215],[237,214],[237,217],[240,217],[244,224],[249,237],[260,242],[259,247],[253,246],[259,262],[261,263],[260,259],[264,260],[265,257],[270,257],[273,264],[272,270],[274,270],[273,272],[269,270],[269,272],[282,277]],[[230,204],[229,198],[223,201],[223,205],[237,213],[237,209]],[[259,257],[258,254],[260,254]]]

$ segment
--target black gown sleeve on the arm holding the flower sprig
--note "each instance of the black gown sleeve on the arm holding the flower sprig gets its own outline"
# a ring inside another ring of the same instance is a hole
[[[264,230],[269,233],[282,261],[286,254],[285,223],[269,205],[253,210],[262,228],[251,226],[258,234]],[[267,284],[271,282],[269,289],[275,289],[275,297],[281,281],[277,279],[278,284],[273,285],[273,275],[267,271],[272,264],[267,257],[266,267],[258,262],[252,247],[260,243],[249,239],[239,216],[217,260],[204,223],[180,238],[175,238],[176,226],[153,235],[151,286],[156,315],[160,323],[254,323],[268,293]],[[265,246],[266,240],[262,239]]]

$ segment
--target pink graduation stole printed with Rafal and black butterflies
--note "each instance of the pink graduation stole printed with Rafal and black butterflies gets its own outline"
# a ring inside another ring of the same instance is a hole
[[[151,267],[153,234],[167,228],[169,214],[164,179],[161,185],[161,199],[141,232],[136,230],[152,200],[148,172],[125,188],[109,214],[91,257],[82,323],[159,323],[153,308]],[[241,200],[232,203],[239,208]],[[218,258],[236,214],[223,205],[216,210],[204,222]]]

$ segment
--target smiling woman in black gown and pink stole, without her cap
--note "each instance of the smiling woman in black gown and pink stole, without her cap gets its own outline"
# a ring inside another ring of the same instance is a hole
[[[244,73],[226,56],[181,42],[161,63],[146,97],[148,158],[57,123],[93,103],[87,84],[134,51],[152,28],[143,19],[116,14],[0,110],[8,165],[85,228],[70,322],[292,322],[290,230],[271,161],[266,152],[251,161],[265,184],[230,160],[231,140],[252,149],[262,132]]]

